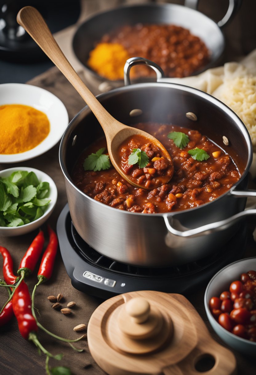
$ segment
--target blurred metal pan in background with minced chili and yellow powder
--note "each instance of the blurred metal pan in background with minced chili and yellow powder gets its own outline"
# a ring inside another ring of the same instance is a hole
[[[143,4],[121,6],[115,9],[99,12],[88,18],[76,31],[73,37],[73,50],[78,60],[85,67],[86,80],[100,92],[123,86],[124,82],[111,81],[92,71],[86,62],[89,52],[99,42],[101,37],[125,24],[136,23],[175,24],[188,28],[192,34],[199,36],[211,51],[210,63],[204,66],[198,74],[220,62],[225,48],[222,28],[232,20],[238,12],[241,0],[229,0],[226,15],[218,23],[196,10],[198,0],[185,0],[185,6],[176,4]]]

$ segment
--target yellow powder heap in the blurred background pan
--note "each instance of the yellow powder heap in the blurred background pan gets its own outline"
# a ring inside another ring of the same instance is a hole
[[[119,43],[99,43],[89,55],[88,66],[109,80],[124,78],[124,65],[131,57]]]

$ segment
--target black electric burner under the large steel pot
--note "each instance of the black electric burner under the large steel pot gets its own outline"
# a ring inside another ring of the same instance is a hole
[[[241,223],[232,239],[210,257],[167,268],[129,266],[101,255],[77,233],[68,204],[58,218],[57,234],[61,256],[73,287],[107,299],[138,290],[185,294],[195,289],[209,281],[226,264],[242,258],[247,228],[245,222]]]

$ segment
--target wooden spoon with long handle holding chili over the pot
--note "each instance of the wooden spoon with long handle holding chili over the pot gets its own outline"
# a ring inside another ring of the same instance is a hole
[[[143,130],[122,124],[105,110],[105,108],[85,86],[83,81],[79,78],[68,60],[65,58],[63,52],[52,36],[51,31],[43,20],[42,15],[38,12],[37,9],[31,6],[25,6],[19,11],[17,15],[17,22],[22,27],[24,27],[24,29],[28,32],[28,34],[30,34],[30,36],[35,40],[39,47],[52,60],[57,68],[60,69],[60,71],[74,86],[76,91],[80,94],[83,100],[87,103],[88,107],[94,113],[95,117],[104,130],[107,139],[107,149],[109,152],[110,160],[115,169],[123,178],[125,178],[125,180],[127,180],[134,186],[143,187],[144,189],[146,188],[145,186],[139,185],[132,181],[120,167],[121,157],[118,153],[118,147],[122,144],[122,142],[125,141],[125,139],[135,134],[146,137],[149,141],[153,142],[157,147],[159,147],[162,156],[168,159],[171,163],[171,166],[173,167],[171,156],[161,144],[161,142],[159,142],[155,137],[144,132]],[[173,176],[173,171],[172,174],[169,174],[168,176],[166,175],[164,176],[164,178],[161,178],[161,181],[159,181],[158,184],[154,184],[153,187],[157,187],[167,183]],[[148,188],[151,189],[152,186]]]

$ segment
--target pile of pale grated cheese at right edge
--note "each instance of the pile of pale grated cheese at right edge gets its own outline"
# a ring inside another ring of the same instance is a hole
[[[256,151],[256,77],[245,75],[224,80],[218,99],[241,118]]]

